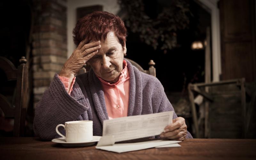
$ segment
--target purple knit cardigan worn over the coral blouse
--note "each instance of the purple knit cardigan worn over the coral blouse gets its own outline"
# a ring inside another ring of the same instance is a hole
[[[128,116],[174,110],[160,81],[140,72],[127,61],[130,74]],[[177,118],[174,112],[173,118]],[[93,70],[76,77],[73,91],[68,95],[55,74],[50,87],[36,105],[34,132],[43,140],[59,138],[55,128],[68,121],[92,120],[93,135],[102,136],[103,121],[108,119],[101,82]],[[65,135],[63,127],[59,131]],[[192,138],[188,132],[187,138]]]

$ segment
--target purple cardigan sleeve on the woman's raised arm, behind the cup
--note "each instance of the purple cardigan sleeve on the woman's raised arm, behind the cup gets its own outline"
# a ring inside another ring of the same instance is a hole
[[[36,136],[43,140],[60,137],[55,131],[56,126],[68,121],[82,120],[81,115],[89,106],[87,95],[82,93],[77,83],[74,84],[73,91],[69,95],[56,74],[50,87],[36,105],[33,124]],[[59,131],[65,135],[63,127],[59,127]]]

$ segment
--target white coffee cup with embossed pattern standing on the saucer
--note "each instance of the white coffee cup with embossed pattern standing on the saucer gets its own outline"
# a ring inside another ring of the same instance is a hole
[[[66,136],[58,131],[58,128],[62,126],[66,130]],[[70,121],[65,122],[65,125],[59,124],[56,126],[56,132],[66,142],[87,142],[92,141],[92,121]]]

